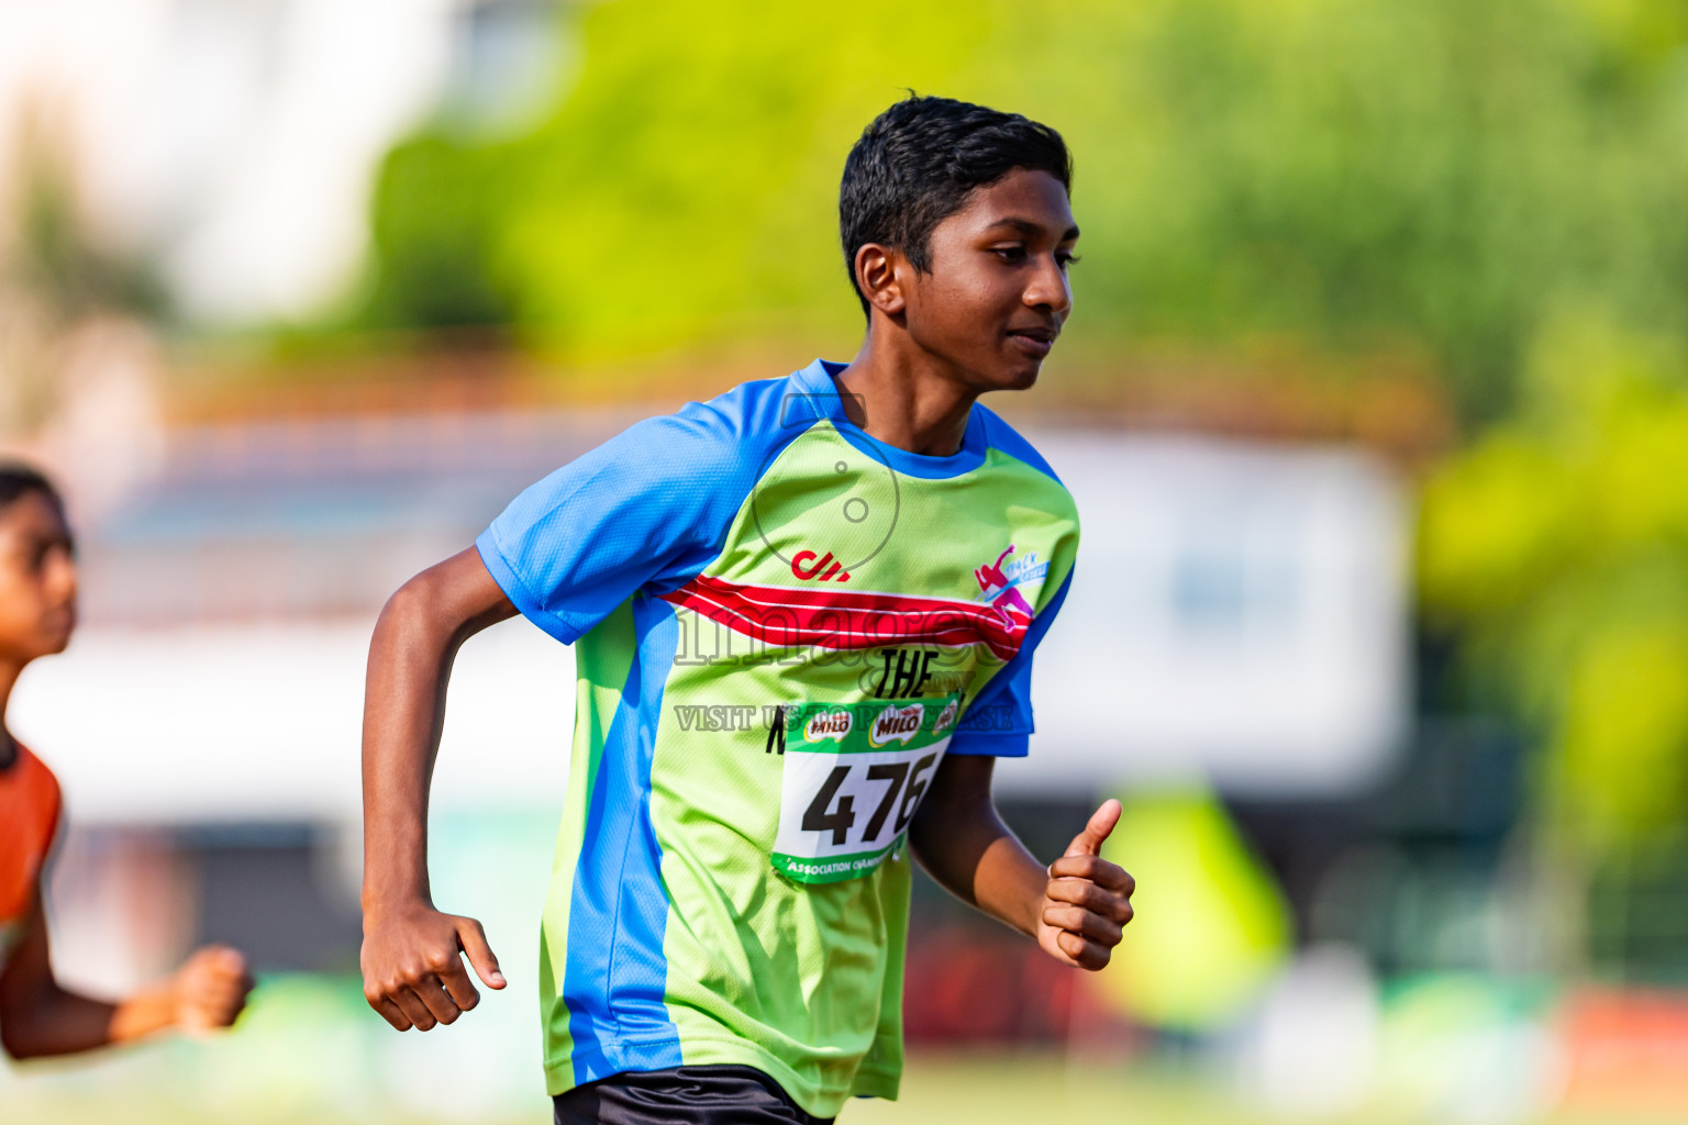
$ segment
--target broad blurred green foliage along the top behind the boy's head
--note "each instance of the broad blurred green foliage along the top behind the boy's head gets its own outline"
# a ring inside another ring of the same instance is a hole
[[[371,319],[569,356],[847,342],[837,174],[913,86],[1065,132],[1092,354],[1408,347],[1492,417],[1565,302],[1688,334],[1676,3],[619,0],[569,34],[532,135],[395,153]]]

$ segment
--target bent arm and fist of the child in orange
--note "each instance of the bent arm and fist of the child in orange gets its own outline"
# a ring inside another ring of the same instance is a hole
[[[0,1044],[14,1059],[74,1054],[167,1027],[228,1027],[246,1005],[246,960],[226,946],[194,953],[172,977],[108,1004],[66,992],[52,977],[41,896],[24,941],[0,973]]]

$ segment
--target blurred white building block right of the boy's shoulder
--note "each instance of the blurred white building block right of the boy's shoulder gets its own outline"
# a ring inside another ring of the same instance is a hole
[[[1411,713],[1401,482],[1354,447],[1048,433],[1084,521],[1018,784],[1344,798]],[[1014,784],[1016,772],[1003,779]]]

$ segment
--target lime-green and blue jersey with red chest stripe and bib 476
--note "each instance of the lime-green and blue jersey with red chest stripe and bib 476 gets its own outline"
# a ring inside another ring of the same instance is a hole
[[[641,422],[476,541],[576,646],[552,1093],[734,1063],[819,1117],[896,1096],[908,825],[945,754],[1026,754],[1079,518],[984,406],[910,454],[847,420],[841,369]]]

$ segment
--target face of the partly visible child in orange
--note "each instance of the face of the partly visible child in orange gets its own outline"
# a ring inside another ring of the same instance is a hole
[[[0,509],[0,656],[62,653],[76,627],[76,560],[64,516],[41,493]]]

